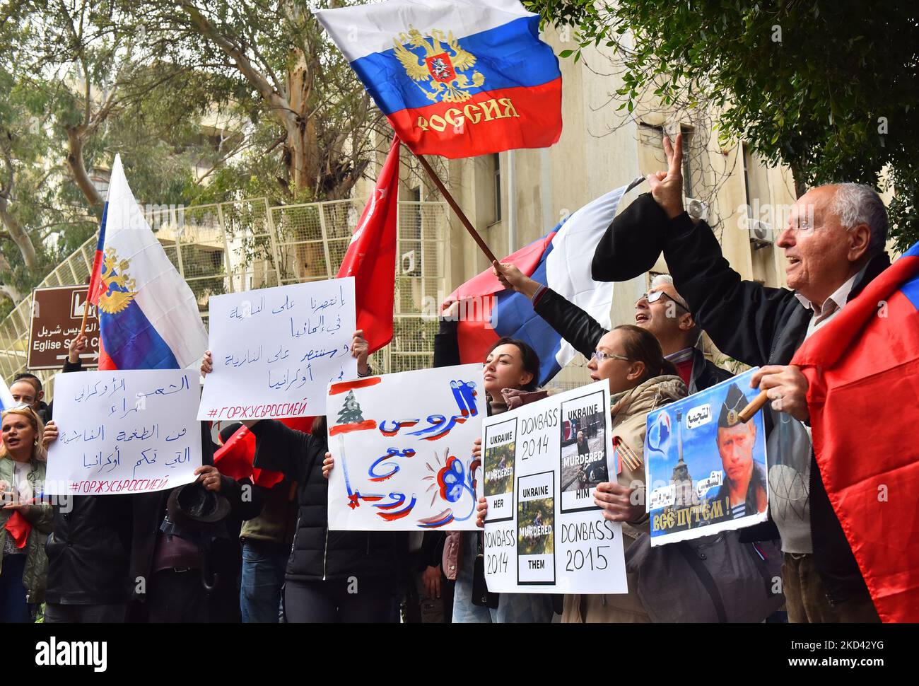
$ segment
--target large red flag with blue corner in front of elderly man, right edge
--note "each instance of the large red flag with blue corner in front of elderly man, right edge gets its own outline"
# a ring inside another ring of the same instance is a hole
[[[795,353],[823,485],[884,622],[919,622],[919,243]]]

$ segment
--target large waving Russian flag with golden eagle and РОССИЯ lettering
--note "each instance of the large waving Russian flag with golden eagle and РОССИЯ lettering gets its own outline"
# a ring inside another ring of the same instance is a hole
[[[547,147],[562,135],[562,73],[517,0],[390,0],[314,10],[415,154]]]

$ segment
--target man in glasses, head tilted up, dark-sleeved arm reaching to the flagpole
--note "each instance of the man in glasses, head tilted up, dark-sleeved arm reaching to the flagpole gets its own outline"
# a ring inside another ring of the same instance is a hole
[[[536,314],[590,360],[597,342],[607,333],[606,328],[576,304],[530,279],[514,265],[495,262],[493,268],[505,288],[526,295],[533,302]],[[732,377],[731,372],[706,360],[696,347],[702,330],[696,325],[686,301],[676,292],[669,275],[654,277],[649,291],[635,303],[635,325],[657,338],[664,357],[676,365],[690,394]]]

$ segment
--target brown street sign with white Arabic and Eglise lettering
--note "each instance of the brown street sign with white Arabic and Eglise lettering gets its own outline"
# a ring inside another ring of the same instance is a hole
[[[88,289],[53,286],[32,291],[32,326],[28,337],[28,368],[61,369],[70,342],[80,333]],[[80,356],[87,367],[99,363],[99,319],[96,305],[86,315],[88,349]]]

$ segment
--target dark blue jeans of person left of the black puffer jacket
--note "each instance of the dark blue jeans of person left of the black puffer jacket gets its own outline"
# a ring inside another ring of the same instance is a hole
[[[244,623],[278,623],[288,556],[278,543],[243,540],[239,607]]]

